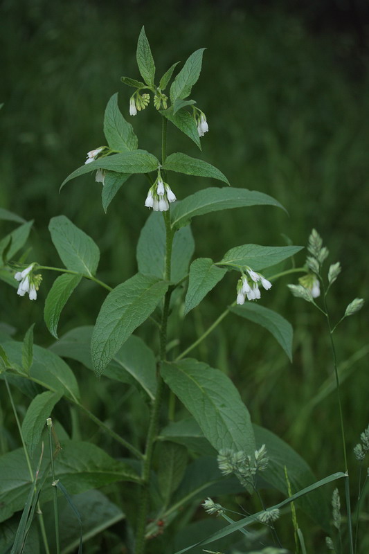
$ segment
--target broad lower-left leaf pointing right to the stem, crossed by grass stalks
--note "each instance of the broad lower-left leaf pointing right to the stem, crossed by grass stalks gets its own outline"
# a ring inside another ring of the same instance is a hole
[[[48,449],[44,452],[44,463],[39,474],[48,466]],[[37,456],[33,460],[33,470],[37,465]],[[48,471],[48,467],[47,467]],[[24,507],[30,489],[30,474],[21,448],[8,452],[0,457],[0,521],[11,517],[14,512]],[[102,487],[116,481],[138,481],[138,475],[126,463],[114,460],[102,449],[91,443],[77,440],[62,442],[62,450],[55,459],[55,476],[66,490],[78,494],[92,488]],[[41,501],[51,500],[53,487],[46,485],[42,489]]]

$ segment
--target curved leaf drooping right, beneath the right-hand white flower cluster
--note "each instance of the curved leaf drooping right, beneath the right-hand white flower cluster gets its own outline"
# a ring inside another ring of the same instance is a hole
[[[271,332],[292,361],[292,338],[294,336],[294,330],[287,319],[277,314],[277,312],[269,310],[267,307],[251,302],[242,306],[231,306],[229,310],[238,316],[253,321],[253,323],[258,323],[258,325],[261,325]]]

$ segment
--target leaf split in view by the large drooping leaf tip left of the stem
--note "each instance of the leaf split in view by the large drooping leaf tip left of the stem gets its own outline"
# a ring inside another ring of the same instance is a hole
[[[92,332],[92,325],[72,329],[50,346],[50,350],[59,356],[78,360],[92,370]],[[111,359],[105,368],[104,375],[123,383],[138,384],[151,399],[155,396],[156,360],[154,352],[140,337],[135,337],[133,334]]]

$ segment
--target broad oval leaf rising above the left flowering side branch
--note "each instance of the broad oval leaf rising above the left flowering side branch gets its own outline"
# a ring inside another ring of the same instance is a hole
[[[100,251],[89,235],[78,229],[65,215],[52,217],[48,230],[65,267],[89,276],[96,273]]]

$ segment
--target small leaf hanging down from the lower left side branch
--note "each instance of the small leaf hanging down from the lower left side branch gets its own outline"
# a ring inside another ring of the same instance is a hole
[[[37,395],[28,406],[21,425],[21,432],[31,458],[45,428],[46,419],[50,417],[53,407],[61,397],[61,393],[46,391]]]

